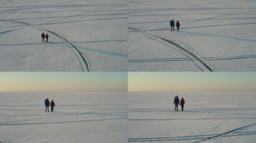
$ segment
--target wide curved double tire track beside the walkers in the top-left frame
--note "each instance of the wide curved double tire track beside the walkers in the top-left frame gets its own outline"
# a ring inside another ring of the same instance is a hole
[[[32,26],[34,29],[37,29],[37,30],[39,30],[39,31],[48,31],[49,33],[51,33],[51,34],[57,36],[61,41],[63,41],[63,42],[66,41],[66,42],[65,42],[66,44],[67,44],[67,43],[70,44],[70,45],[79,53],[79,55],[82,57],[83,63],[85,63],[85,66],[86,66],[86,70],[87,70],[87,71],[90,71],[89,61],[87,60],[87,58],[85,57],[85,55],[82,53],[82,51],[80,51],[74,44],[72,44],[69,40],[63,38],[63,37],[62,37],[61,35],[59,35],[58,33],[55,33],[55,32],[53,32],[53,31],[49,31],[49,30],[46,30],[46,29],[38,28],[38,27],[36,27],[36,26],[34,26],[34,25],[30,25],[30,24],[25,23],[25,22],[18,22],[18,21],[13,21],[13,20],[0,20],[0,21],[20,23],[20,24],[23,24],[23,25]],[[68,45],[68,44],[67,44],[67,45]],[[68,45],[68,47],[70,47],[70,46]],[[84,71],[84,67],[82,66],[82,62],[81,62],[79,56],[77,55],[77,53],[76,53],[71,47],[70,47],[70,49],[76,54],[77,58],[79,59],[79,63],[80,63],[80,65],[81,65],[81,67],[82,67],[82,71]]]

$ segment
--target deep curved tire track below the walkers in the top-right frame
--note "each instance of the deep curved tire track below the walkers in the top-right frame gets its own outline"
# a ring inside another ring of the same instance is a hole
[[[133,30],[133,31],[138,31],[138,32],[141,32],[141,33],[144,33],[144,34],[147,34],[147,35],[150,35],[150,36],[154,36],[156,38],[159,38],[159,39],[162,39],[174,46],[176,46],[177,48],[180,48],[181,50],[184,50],[186,51],[187,53],[189,53],[190,55],[192,55],[193,57],[195,57],[197,60],[199,60],[209,71],[215,71],[213,69],[213,67],[211,67],[206,61],[204,61],[198,54],[196,54],[195,52],[189,50],[188,48],[182,46],[181,44],[179,44],[178,42],[176,41],[171,41],[171,40],[168,40],[168,39],[165,39],[165,38],[162,38],[162,37],[159,37],[159,36],[155,36],[155,35],[151,35],[151,34],[148,34],[146,32],[143,32],[143,31],[140,31],[139,29],[135,29],[135,28],[131,28],[131,27],[128,27],[129,29]]]

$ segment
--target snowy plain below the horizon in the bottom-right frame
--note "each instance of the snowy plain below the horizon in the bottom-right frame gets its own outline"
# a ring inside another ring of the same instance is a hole
[[[174,96],[184,111],[174,112]],[[128,142],[253,143],[255,92],[129,92]]]

